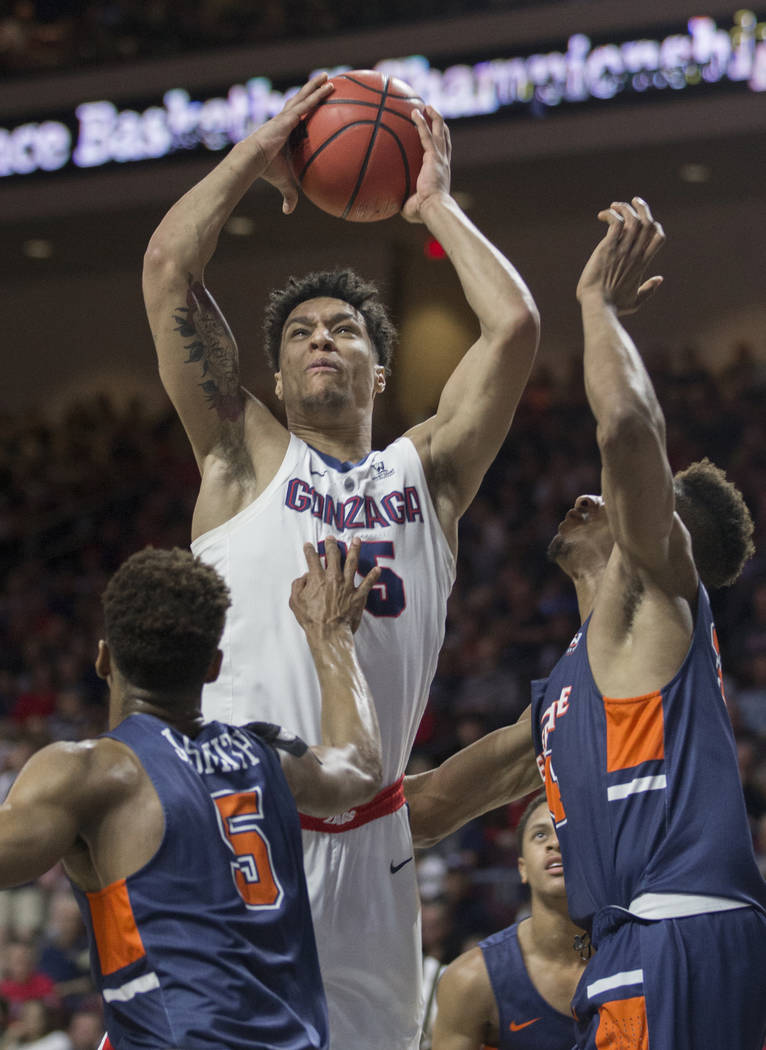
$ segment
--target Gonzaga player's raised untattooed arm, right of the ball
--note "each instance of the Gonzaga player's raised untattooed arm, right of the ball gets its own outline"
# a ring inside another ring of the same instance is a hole
[[[422,222],[447,252],[480,337],[448,379],[435,416],[410,437],[426,471],[438,479],[438,504],[460,517],[508,434],[537,351],[539,318],[532,295],[507,258],[449,194],[450,141],[443,118],[414,110],[424,148],[416,193],[402,214]],[[440,514],[445,523],[442,508]]]

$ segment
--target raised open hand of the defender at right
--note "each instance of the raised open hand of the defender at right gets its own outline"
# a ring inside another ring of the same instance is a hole
[[[609,225],[607,234],[586,264],[577,285],[577,299],[600,295],[618,314],[632,314],[651,298],[662,277],[644,280],[646,267],[665,243],[665,234],[641,197],[618,202],[598,213]]]

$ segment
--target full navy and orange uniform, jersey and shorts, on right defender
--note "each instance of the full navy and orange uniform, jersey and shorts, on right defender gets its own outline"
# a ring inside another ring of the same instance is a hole
[[[532,700],[570,914],[598,949],[572,1003],[578,1046],[761,1050],[766,883],[707,593],[678,673],[645,696],[601,694],[589,625]]]

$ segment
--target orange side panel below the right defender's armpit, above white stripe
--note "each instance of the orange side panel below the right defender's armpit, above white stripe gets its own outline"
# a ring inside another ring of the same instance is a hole
[[[629,699],[603,697],[607,715],[607,772],[630,770],[665,757],[662,693]]]

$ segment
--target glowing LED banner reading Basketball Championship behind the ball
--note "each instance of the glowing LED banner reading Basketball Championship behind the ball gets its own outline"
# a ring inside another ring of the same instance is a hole
[[[554,107],[662,92],[760,92],[766,91],[766,21],[739,10],[724,28],[700,15],[690,18],[683,32],[658,39],[594,45],[584,34],[574,34],[560,50],[488,57],[444,68],[412,55],[384,59],[375,68],[405,80],[450,122],[493,114],[539,117]],[[269,78],[255,76],[207,99],[174,86],[159,100],[130,107],[108,99],[84,100],[70,113],[0,127],[0,176],[90,170],[226,149],[279,112],[297,90],[278,89]]]

